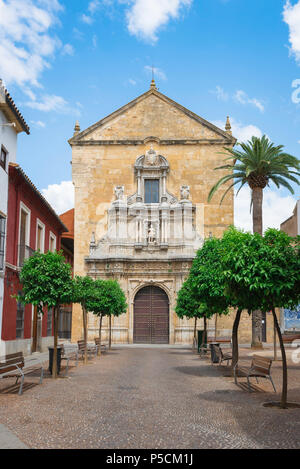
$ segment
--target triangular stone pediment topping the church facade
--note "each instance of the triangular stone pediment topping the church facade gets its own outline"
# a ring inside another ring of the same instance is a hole
[[[102,142],[219,141],[235,139],[156,89],[139,96],[69,140],[71,145]]]

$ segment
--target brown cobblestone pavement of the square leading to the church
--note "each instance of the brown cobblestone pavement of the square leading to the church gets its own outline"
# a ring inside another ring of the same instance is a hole
[[[298,402],[299,375],[291,366],[290,400]],[[20,397],[0,382],[0,422],[32,448],[300,447],[300,410],[263,407],[275,398],[268,382],[249,394],[225,366],[188,348],[115,346],[69,376],[36,386],[27,377]]]

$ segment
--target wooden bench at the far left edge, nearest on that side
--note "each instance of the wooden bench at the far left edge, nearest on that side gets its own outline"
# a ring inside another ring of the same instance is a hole
[[[13,353],[0,357],[0,378],[16,378],[16,384],[21,378],[19,396],[23,393],[25,375],[41,370],[40,384],[43,382],[44,368],[41,363],[25,367],[23,352]]]

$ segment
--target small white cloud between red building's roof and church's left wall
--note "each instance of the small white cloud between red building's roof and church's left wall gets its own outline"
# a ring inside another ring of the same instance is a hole
[[[72,181],[50,184],[42,194],[56,213],[62,214],[74,207],[74,185]]]

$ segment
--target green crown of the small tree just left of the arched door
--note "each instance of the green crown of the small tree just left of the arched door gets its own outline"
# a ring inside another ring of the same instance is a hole
[[[120,316],[127,311],[125,294],[116,280],[96,280],[86,306],[97,316]]]

